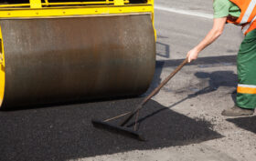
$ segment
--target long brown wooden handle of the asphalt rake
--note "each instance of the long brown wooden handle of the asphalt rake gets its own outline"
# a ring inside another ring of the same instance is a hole
[[[123,120],[123,123],[121,124],[121,126],[124,126],[139,110],[141,110],[143,107],[144,107],[144,104],[149,100],[151,99],[153,96],[155,96],[155,94],[157,94],[160,89],[165,86],[165,84],[172,78],[174,77],[174,75],[176,75],[176,73],[178,71],[180,71],[180,69],[186,65],[188,62],[188,59],[186,58],[180,65],[178,65],[175,69],[175,71],[173,73],[171,73],[170,75],[168,75],[165,80],[159,85],[157,86],[154,91],[152,93],[150,93],[149,96],[145,97],[144,100],[142,101],[142,103],[136,108],[133,110],[133,112],[127,116],[127,118],[125,120]]]

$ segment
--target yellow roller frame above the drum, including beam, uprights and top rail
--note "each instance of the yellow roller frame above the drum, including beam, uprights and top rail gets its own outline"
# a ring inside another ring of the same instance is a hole
[[[110,15],[151,13],[154,15],[154,0],[146,4],[130,4],[129,0],[106,0],[99,2],[49,3],[45,0],[30,0],[29,4],[0,5],[0,18],[28,18],[69,15]],[[152,17],[154,18],[154,17]]]

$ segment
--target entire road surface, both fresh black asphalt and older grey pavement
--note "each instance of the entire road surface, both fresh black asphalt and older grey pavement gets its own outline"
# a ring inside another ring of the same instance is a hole
[[[155,0],[157,62],[147,94],[208,33],[211,17],[211,0]],[[234,104],[242,37],[227,25],[145,106],[139,130],[147,142],[91,126],[91,118],[129,111],[142,98],[7,111],[0,112],[0,160],[256,160],[256,117],[220,116]]]

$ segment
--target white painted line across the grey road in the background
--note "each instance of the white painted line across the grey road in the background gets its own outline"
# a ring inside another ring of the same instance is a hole
[[[165,7],[165,6],[161,6],[161,5],[155,5],[154,8],[157,10],[162,10],[162,11],[176,13],[176,14],[194,15],[194,16],[199,16],[199,17],[208,18],[208,19],[213,18],[213,15],[210,15],[210,14],[197,13],[197,12],[193,12],[193,11],[189,11],[189,10],[170,8],[170,7]]]

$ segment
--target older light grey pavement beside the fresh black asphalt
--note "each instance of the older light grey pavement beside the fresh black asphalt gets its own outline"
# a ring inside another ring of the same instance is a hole
[[[155,0],[157,62],[155,80],[150,90],[172,72],[186,57],[187,51],[208,33],[212,25],[212,13],[211,0]],[[253,125],[256,117],[220,116],[223,109],[234,104],[237,84],[236,55],[242,38],[240,27],[227,25],[218,41],[204,50],[197,61],[184,67],[153,99],[178,114],[208,122],[212,126],[210,129],[217,132],[213,135],[215,138],[205,133],[202,136],[206,141],[195,142],[200,138],[188,138],[183,142],[186,143],[184,146],[151,150],[137,148],[126,153],[86,157],[80,160],[255,160],[256,128]],[[162,112],[163,115],[165,112]],[[156,122],[158,126],[176,125],[165,118]],[[176,126],[181,129],[180,133],[174,130],[169,135],[186,136],[186,123]],[[190,129],[194,127],[191,125]],[[195,130],[197,131],[196,126]],[[200,130],[198,132],[200,133]],[[188,133],[189,135],[194,134]],[[166,137],[164,139],[165,142],[169,141]]]

